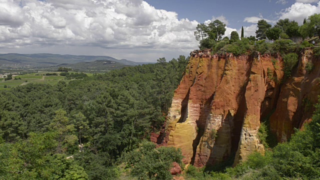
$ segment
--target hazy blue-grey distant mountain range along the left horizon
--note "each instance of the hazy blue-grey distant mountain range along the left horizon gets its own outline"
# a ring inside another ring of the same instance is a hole
[[[95,56],[95,55],[60,55],[60,54],[51,54],[51,53],[36,53],[36,54],[18,54],[18,53],[6,53],[0,54],[0,65],[1,64],[25,64],[31,65],[33,67],[49,67],[49,66],[61,66],[60,64],[75,64],[75,66],[82,66],[85,64],[84,62],[93,62],[97,61],[97,64],[101,62],[104,64],[108,64],[109,66],[123,67],[123,66],[134,66],[144,63],[150,62],[134,62],[126,59],[116,59],[110,56]],[[103,63],[104,61],[105,63]],[[114,64],[111,64],[115,62]],[[90,64],[86,64],[90,65]]]

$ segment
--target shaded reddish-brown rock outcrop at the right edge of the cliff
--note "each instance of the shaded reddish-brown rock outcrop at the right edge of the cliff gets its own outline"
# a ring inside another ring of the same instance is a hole
[[[312,67],[307,71],[307,67]],[[279,142],[286,141],[304,122],[311,120],[313,104],[320,95],[320,63],[306,49],[300,54],[295,73],[281,87],[275,112],[270,117],[270,127]]]

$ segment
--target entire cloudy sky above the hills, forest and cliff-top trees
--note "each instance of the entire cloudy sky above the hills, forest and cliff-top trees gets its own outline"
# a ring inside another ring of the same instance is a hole
[[[0,53],[107,55],[155,62],[198,48],[198,23],[219,19],[225,36],[256,23],[320,13],[320,0],[0,0]]]

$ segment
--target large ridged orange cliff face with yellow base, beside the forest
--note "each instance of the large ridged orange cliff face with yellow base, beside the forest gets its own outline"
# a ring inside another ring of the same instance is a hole
[[[278,56],[190,54],[174,92],[163,143],[179,147],[184,163],[216,164],[235,154],[235,163],[263,151],[257,132],[271,112],[282,78]]]

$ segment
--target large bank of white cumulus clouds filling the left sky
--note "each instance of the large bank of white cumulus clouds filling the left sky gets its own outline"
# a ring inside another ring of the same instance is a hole
[[[189,52],[197,48],[197,24],[143,0],[0,0],[0,50],[68,45]]]

